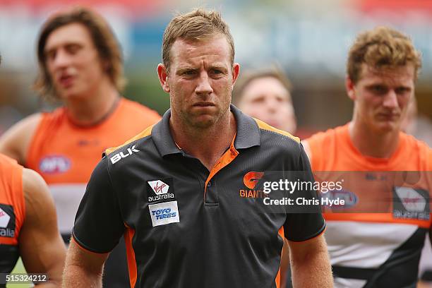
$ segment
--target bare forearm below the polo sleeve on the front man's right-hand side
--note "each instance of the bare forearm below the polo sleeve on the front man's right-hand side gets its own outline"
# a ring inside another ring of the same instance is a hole
[[[294,288],[333,287],[330,259],[323,235],[303,242],[288,243]]]

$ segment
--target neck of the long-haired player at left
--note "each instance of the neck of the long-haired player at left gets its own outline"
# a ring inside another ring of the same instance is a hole
[[[113,85],[99,85],[91,95],[67,100],[68,118],[78,126],[93,126],[107,119],[119,102],[119,92]]]

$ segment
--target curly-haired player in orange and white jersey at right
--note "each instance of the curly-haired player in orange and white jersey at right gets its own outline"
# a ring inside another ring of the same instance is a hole
[[[345,82],[354,101],[352,121],[306,141],[312,169],[432,171],[431,148],[401,131],[420,67],[419,52],[401,32],[376,28],[361,33],[349,51]],[[369,187],[378,183],[363,181]],[[412,189],[407,197],[428,202],[430,189]],[[325,214],[336,287],[415,287],[421,248],[426,234],[431,236],[430,210],[424,205],[414,213],[404,207],[404,217],[391,210]]]

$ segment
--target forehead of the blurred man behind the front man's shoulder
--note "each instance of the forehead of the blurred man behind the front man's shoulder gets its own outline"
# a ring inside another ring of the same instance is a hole
[[[251,80],[243,91],[243,97],[252,98],[258,96],[278,95],[291,100],[289,91],[285,86],[272,76],[265,76]]]

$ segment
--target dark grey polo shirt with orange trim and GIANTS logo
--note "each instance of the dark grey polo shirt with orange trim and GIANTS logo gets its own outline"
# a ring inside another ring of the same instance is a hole
[[[313,176],[298,138],[231,111],[236,136],[212,171],[176,146],[169,110],[107,150],[80,203],[74,241],[107,253],[124,236],[131,287],[278,287],[282,236],[306,241],[325,222],[320,212],[272,212],[254,188],[267,171]]]

